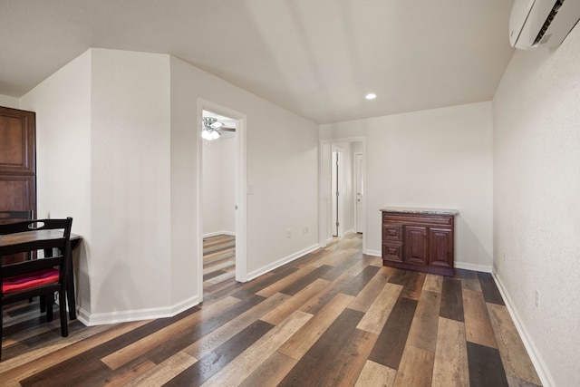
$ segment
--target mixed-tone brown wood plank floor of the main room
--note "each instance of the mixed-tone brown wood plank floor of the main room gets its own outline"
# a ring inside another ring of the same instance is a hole
[[[0,385],[534,386],[490,275],[381,266],[361,237],[247,284],[205,287],[172,318],[85,327],[5,311]]]

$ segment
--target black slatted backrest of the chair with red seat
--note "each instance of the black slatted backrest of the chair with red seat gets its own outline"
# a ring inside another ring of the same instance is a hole
[[[71,255],[71,227],[73,218],[34,219],[0,225],[0,281],[8,276],[19,276],[48,267],[60,266],[65,278],[66,265]],[[62,255],[5,264],[3,256],[35,250],[58,248]]]

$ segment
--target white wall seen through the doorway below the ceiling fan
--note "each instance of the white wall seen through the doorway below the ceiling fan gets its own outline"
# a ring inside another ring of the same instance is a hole
[[[236,233],[236,139],[203,143],[203,234]]]

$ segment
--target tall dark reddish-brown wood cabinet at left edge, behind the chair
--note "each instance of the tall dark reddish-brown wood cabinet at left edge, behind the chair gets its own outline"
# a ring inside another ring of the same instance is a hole
[[[0,107],[0,210],[36,214],[35,114]]]

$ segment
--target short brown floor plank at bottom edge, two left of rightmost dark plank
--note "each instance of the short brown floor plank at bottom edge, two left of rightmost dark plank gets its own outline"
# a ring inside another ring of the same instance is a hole
[[[393,387],[430,387],[435,353],[407,345]]]

